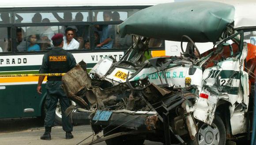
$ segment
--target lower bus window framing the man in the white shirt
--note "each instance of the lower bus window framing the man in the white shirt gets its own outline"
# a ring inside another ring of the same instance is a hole
[[[44,21],[44,19],[43,19]],[[62,33],[65,36],[65,29],[72,28],[74,32],[74,41],[79,42],[79,47],[84,49],[85,42],[89,40],[89,25],[69,25],[69,26],[30,26],[17,28],[17,51],[45,51],[53,47],[51,38],[56,33]],[[34,41],[35,40],[35,41]],[[87,43],[88,44],[88,43]],[[89,44],[90,45],[90,44]],[[33,47],[32,47],[33,46]],[[32,47],[32,48],[31,48]],[[90,47],[87,49],[90,49]],[[72,49],[68,49],[72,50]]]

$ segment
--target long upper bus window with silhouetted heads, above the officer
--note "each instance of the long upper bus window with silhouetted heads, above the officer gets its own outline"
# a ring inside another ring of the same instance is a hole
[[[49,22],[87,22],[88,11],[31,11],[16,12],[15,17],[22,18],[22,21],[15,23],[41,23],[43,19],[49,19]]]

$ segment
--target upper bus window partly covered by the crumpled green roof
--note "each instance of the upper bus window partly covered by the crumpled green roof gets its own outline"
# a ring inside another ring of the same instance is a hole
[[[125,19],[134,14],[137,9],[134,10],[95,10],[92,13],[94,22],[123,22]]]

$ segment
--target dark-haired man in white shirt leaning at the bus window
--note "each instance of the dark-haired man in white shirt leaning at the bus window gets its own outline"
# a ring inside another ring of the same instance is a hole
[[[79,42],[74,39],[74,29],[67,28],[65,30],[65,35],[63,37],[64,39],[64,50],[74,50],[79,48]]]

